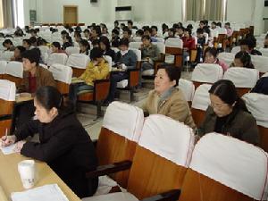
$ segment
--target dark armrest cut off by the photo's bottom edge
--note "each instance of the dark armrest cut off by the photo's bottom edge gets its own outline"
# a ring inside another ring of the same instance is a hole
[[[180,189],[172,189],[168,192],[158,194],[153,197],[147,197],[142,201],[177,201],[180,197]]]

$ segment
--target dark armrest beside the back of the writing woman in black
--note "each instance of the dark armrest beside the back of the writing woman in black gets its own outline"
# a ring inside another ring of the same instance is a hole
[[[132,162],[130,161],[122,161],[119,163],[101,165],[96,168],[96,171],[87,172],[86,177],[95,178],[95,177],[104,176],[104,175],[115,173],[115,172],[129,170],[131,167],[131,164]]]

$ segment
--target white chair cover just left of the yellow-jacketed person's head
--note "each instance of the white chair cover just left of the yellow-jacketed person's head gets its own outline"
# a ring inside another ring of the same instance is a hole
[[[88,55],[71,54],[67,60],[66,65],[77,68],[77,69],[86,69],[88,62],[89,62]]]

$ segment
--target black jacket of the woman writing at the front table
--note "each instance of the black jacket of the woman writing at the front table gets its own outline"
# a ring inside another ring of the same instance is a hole
[[[46,162],[77,196],[93,195],[97,179],[87,180],[85,173],[96,169],[96,153],[75,115],[59,114],[50,123],[29,121],[15,135],[19,141],[35,133],[39,133],[40,143],[26,142],[21,155]]]

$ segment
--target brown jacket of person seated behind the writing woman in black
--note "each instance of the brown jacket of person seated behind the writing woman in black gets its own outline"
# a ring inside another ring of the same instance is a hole
[[[43,86],[56,87],[56,82],[54,81],[51,71],[48,71],[47,69],[41,66],[37,67],[36,77],[37,77],[37,88]],[[29,71],[23,72],[23,79],[21,81],[20,91],[29,92]]]

